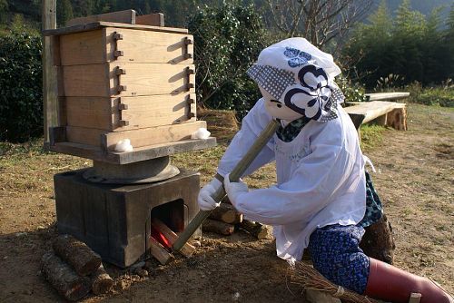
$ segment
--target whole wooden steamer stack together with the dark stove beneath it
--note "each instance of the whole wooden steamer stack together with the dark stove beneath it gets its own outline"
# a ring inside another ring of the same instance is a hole
[[[134,24],[134,14],[131,24],[96,19],[44,31],[59,95],[48,148],[94,160],[54,176],[57,227],[121,267],[150,249],[152,212],[178,232],[198,211],[199,173],[174,168],[169,155],[216,143],[191,139],[206,127],[196,120],[192,35]],[[133,152],[116,152],[125,139]]]

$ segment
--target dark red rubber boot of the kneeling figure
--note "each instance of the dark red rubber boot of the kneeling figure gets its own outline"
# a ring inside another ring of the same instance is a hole
[[[393,303],[408,303],[412,292],[422,295],[420,303],[453,303],[437,284],[427,278],[370,258],[370,273],[364,295]]]

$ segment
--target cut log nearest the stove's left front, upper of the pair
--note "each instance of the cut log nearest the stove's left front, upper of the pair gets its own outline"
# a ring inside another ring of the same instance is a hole
[[[70,235],[61,235],[52,245],[55,254],[68,263],[78,275],[93,274],[101,265],[101,257],[84,242]]]

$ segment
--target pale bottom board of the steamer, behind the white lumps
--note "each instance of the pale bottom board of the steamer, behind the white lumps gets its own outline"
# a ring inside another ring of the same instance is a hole
[[[131,140],[131,144],[134,148],[163,142],[177,142],[184,139],[190,139],[192,132],[197,131],[201,127],[206,128],[206,122],[186,122],[133,131],[107,132],[104,134],[105,140],[103,141],[103,144],[105,144],[104,147],[107,151],[114,151],[115,144],[124,139]],[[68,141],[76,142],[69,139]]]

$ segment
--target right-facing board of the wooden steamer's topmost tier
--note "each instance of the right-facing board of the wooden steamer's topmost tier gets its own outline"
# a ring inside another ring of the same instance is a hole
[[[191,34],[174,34],[134,29],[107,27],[107,61],[151,64],[192,64],[193,44]],[[114,40],[114,33],[122,34],[122,40]],[[114,51],[123,56],[114,57]],[[190,54],[190,56],[186,55]]]

